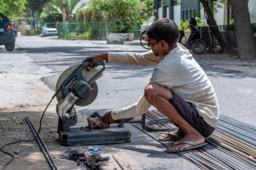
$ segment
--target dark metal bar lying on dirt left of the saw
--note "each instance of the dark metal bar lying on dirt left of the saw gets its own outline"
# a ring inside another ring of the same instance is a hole
[[[58,167],[51,155],[51,153],[49,152],[49,150],[46,148],[46,145],[44,144],[42,138],[40,137],[40,135],[38,134],[38,132],[36,131],[36,128],[34,128],[34,125],[32,124],[32,122],[30,121],[30,118],[26,117],[25,118],[28,126],[30,127],[30,130],[32,131],[32,133],[34,134],[34,136],[36,137],[38,146],[40,147],[40,150],[42,151],[42,153],[44,154],[44,157],[46,159],[46,161],[49,163],[49,166],[51,167],[52,170],[57,170]]]

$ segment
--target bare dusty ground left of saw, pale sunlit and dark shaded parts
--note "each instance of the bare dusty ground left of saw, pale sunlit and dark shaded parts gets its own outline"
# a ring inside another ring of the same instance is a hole
[[[28,116],[38,129],[42,113],[54,94],[54,91],[41,81],[41,77],[47,75],[49,70],[34,68],[29,57],[22,58],[23,62],[20,62],[19,57],[14,54],[10,60],[7,56],[1,56],[3,62],[0,64],[0,146],[18,140],[34,139],[25,118]],[[72,147],[61,146],[58,142],[56,104],[57,100],[54,99],[46,110],[40,136],[59,169],[79,169],[74,161],[60,158],[62,153]],[[35,140],[5,146],[3,151],[15,156],[6,169],[51,169]],[[117,157],[118,155],[119,153]],[[104,169],[121,169],[113,155],[102,153],[102,157],[110,158]],[[0,158],[2,169],[11,157],[0,152]]]

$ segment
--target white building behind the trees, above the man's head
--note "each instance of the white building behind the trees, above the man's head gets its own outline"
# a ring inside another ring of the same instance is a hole
[[[230,5],[224,5],[216,0],[214,1],[214,18],[217,25],[227,25],[232,19],[232,11]],[[154,0],[156,18],[168,17],[173,19],[177,25],[180,25],[181,19],[189,20],[191,17],[201,17],[205,23],[203,6],[199,3],[199,0],[181,0],[181,4],[177,4],[177,0]],[[249,0],[248,3],[249,13],[251,17],[251,23],[256,24],[256,1]]]

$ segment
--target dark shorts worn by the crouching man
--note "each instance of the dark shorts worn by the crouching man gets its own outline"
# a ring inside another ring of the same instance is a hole
[[[183,116],[191,126],[193,126],[203,137],[210,136],[214,132],[215,128],[207,124],[203,117],[199,114],[197,109],[192,103],[189,103],[173,94],[172,98],[169,99],[170,103],[177,109],[177,111]]]

